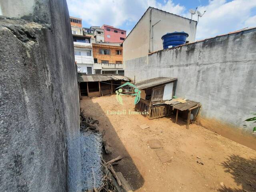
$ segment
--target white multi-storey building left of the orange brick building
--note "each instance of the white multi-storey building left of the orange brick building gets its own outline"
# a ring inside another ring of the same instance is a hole
[[[76,35],[73,35],[73,39],[74,39],[75,61],[77,64],[78,72],[82,72],[86,74],[94,74],[94,68],[93,68],[94,60],[93,60],[92,43],[90,41],[90,37],[80,36],[78,41],[77,40],[78,37]]]

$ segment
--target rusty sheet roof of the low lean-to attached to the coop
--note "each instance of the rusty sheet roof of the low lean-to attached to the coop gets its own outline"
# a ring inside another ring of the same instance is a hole
[[[179,100],[186,100],[186,102],[182,103]],[[191,101],[185,98],[176,98],[169,101],[166,101],[165,104],[173,106],[174,109],[178,109],[180,111],[188,110],[195,106],[200,106],[199,102]]]

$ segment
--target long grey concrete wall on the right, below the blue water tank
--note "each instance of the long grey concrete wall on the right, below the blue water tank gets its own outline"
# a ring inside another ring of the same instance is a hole
[[[256,111],[255,44],[251,29],[166,49],[126,61],[125,76],[178,78],[176,96],[202,103],[202,124],[238,140],[237,131],[252,132],[244,120]]]

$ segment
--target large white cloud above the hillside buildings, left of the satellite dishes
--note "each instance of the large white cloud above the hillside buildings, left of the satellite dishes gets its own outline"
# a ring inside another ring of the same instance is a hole
[[[172,0],[165,4],[156,0],[67,0],[70,16],[76,15],[92,26],[108,24],[120,27],[124,23],[136,23],[149,6],[174,14],[182,14],[184,6]]]

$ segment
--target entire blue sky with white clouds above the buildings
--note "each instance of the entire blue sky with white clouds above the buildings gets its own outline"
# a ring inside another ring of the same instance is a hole
[[[149,6],[191,18],[190,9],[206,13],[199,18],[196,40],[256,26],[256,0],[67,0],[70,16],[82,26],[107,24],[132,30]],[[197,15],[193,16],[197,20]]]

